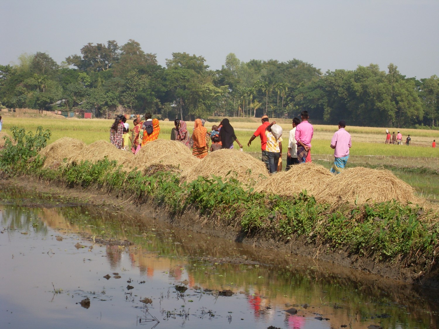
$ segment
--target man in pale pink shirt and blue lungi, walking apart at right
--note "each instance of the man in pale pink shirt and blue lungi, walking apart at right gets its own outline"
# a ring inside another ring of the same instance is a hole
[[[349,149],[352,147],[351,135],[345,130],[345,127],[345,120],[340,120],[338,130],[331,139],[331,149],[334,149],[334,164],[331,172],[335,175],[345,170],[349,159]]]

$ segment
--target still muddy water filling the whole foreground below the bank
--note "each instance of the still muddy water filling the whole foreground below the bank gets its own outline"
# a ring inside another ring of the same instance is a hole
[[[0,197],[0,328],[438,327],[432,290],[175,229],[148,209]]]

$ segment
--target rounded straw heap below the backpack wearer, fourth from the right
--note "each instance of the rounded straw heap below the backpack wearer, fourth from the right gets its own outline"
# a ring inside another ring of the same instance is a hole
[[[140,149],[131,159],[131,168],[144,170],[153,165],[185,170],[198,164],[200,160],[192,155],[189,147],[175,140],[156,139]]]

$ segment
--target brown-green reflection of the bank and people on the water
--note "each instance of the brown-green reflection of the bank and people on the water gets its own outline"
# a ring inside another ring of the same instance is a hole
[[[76,234],[87,236],[88,240],[83,238],[86,248],[78,251],[103,257],[111,272],[135,270],[130,275],[136,275],[138,282],[148,280],[149,286],[182,282],[196,297],[203,290],[232,290],[234,297],[228,297],[224,304],[216,304],[215,300],[212,307],[223,310],[223,317],[230,305],[234,305],[236,318],[251,312],[253,323],[261,328],[273,323],[288,328],[339,328],[349,323],[352,328],[377,323],[387,328],[438,327],[437,294],[429,296],[420,287],[398,285],[354,271],[336,272],[336,268],[317,266],[310,259],[179,230],[151,218],[126,218],[96,208],[8,205],[1,209],[1,224],[8,228],[9,239],[25,236],[22,233],[40,240],[56,234],[73,239]],[[97,245],[90,248],[93,239],[111,241],[103,243],[101,252]],[[133,245],[120,245],[125,240]],[[57,240],[51,243],[55,246]],[[54,253],[58,255],[59,250]],[[86,259],[84,255],[84,264]],[[155,292],[149,293],[153,296]],[[210,305],[204,301],[201,304]],[[180,306],[177,303],[175,307]],[[298,314],[284,312],[291,307]],[[316,319],[319,316],[328,320]]]

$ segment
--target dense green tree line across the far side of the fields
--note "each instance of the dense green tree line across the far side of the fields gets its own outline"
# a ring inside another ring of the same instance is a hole
[[[61,64],[41,52],[0,65],[0,106],[40,110],[150,111],[162,118],[238,116],[292,118],[306,110],[315,122],[438,126],[439,79],[406,78],[394,64],[322,73],[293,59],[240,61],[230,53],[220,70],[202,56],[173,53],[163,67],[129,40],[88,43]]]

